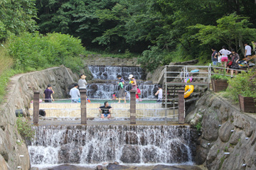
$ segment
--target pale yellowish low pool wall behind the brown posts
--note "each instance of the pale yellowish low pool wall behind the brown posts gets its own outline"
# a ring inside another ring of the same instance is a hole
[[[99,107],[102,103],[87,103],[87,118],[100,118]],[[112,118],[129,118],[130,103],[111,103],[113,109]],[[29,113],[33,115],[33,103]],[[54,118],[80,118],[80,103],[40,103],[40,109],[46,111],[46,117]],[[173,118],[173,110],[165,110],[161,103],[137,103],[137,118],[164,118],[165,111],[169,118]],[[175,114],[178,114],[176,109]],[[176,120],[176,115],[174,119]]]

